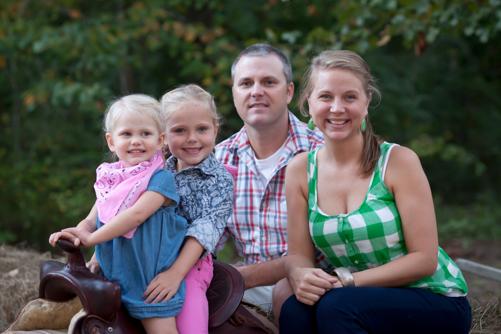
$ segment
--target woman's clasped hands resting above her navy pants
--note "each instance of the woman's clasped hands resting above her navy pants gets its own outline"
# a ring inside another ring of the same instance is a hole
[[[335,287],[334,283],[338,279],[322,269],[296,267],[292,270],[289,281],[296,298],[307,305],[313,305],[325,292]]]

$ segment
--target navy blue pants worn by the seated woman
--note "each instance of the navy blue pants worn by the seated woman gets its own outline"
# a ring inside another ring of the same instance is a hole
[[[466,297],[419,288],[342,287],[327,291],[313,306],[293,294],[279,322],[284,334],[467,334],[471,307]]]

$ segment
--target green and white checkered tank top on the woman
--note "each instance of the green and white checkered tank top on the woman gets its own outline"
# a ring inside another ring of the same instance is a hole
[[[308,156],[308,217],[313,242],[336,267],[351,272],[374,268],[407,254],[402,222],[393,194],[383,183],[391,148],[381,144],[381,156],[372,173],[363,204],[353,212],[329,216],[317,206],[317,151]],[[442,248],[437,271],[406,287],[432,290],[448,296],[463,296],[468,291],[457,265]]]

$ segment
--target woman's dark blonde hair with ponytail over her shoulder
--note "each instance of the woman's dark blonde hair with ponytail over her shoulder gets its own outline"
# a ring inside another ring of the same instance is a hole
[[[381,93],[376,87],[376,80],[371,75],[369,66],[362,57],[352,51],[346,50],[324,51],[312,59],[310,66],[301,80],[299,106],[302,115],[309,116],[310,114],[306,109],[306,105],[308,105],[308,98],[317,83],[319,72],[330,69],[343,69],[352,72],[360,79],[368,99],[374,97],[374,95],[381,98]],[[365,121],[367,126],[365,131],[362,132],[364,146],[359,170],[359,173],[364,176],[370,175],[374,171],[377,159],[381,154],[381,147],[379,145],[382,142],[382,138],[374,134],[369,121],[369,115],[366,116]]]

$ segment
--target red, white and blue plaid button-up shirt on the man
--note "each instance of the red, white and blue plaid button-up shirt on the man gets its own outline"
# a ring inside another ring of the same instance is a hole
[[[286,166],[296,154],[324,146],[322,133],[318,129],[309,130],[291,112],[289,126],[284,153],[266,186],[258,175],[245,127],[216,146],[215,155],[220,163],[238,167],[233,214],[216,252],[231,236],[244,265],[276,259],[287,251]],[[321,260],[318,257],[317,262]]]

